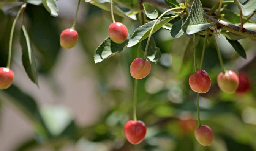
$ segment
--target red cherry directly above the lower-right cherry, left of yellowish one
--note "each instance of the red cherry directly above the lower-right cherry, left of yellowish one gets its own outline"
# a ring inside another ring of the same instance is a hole
[[[211,78],[204,70],[197,70],[189,77],[190,88],[198,93],[206,93],[211,87]]]

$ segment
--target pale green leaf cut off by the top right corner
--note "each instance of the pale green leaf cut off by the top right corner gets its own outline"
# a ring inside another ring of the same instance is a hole
[[[244,4],[238,0],[234,0],[237,5],[242,8],[243,16],[248,16],[256,10],[256,0],[247,0]]]

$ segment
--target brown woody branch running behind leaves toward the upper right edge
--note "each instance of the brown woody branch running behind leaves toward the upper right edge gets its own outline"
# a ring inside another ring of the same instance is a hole
[[[170,7],[165,4],[164,0],[141,0],[141,1],[145,2],[145,3],[152,4],[152,5],[160,6],[162,8],[170,9]],[[248,30],[248,29],[241,31],[240,26],[235,26],[231,23],[224,22],[223,20],[215,19],[207,14],[205,14],[205,17],[208,19],[209,22],[218,22],[216,25],[223,30],[227,30],[227,31],[230,31],[235,34],[239,34],[239,35],[243,35],[243,36],[247,36],[247,37],[256,39],[256,31],[252,31],[252,30]]]

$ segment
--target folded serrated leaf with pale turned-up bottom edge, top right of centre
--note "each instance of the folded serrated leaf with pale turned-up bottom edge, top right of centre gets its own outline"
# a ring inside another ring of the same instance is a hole
[[[191,8],[191,12],[183,24],[182,29],[186,34],[194,34],[198,31],[214,25],[216,22],[207,23],[204,16],[204,10],[200,0],[194,0]]]

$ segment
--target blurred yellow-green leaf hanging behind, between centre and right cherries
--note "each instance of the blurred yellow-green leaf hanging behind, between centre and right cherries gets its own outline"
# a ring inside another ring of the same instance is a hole
[[[196,45],[199,38],[196,38]],[[172,67],[176,73],[176,78],[183,78],[191,73],[194,68],[193,38],[181,36],[174,39],[171,48]]]

